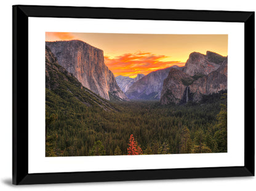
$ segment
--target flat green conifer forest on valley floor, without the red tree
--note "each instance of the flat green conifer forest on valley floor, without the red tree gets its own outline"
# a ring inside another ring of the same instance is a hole
[[[222,96],[223,92],[206,96],[201,103],[167,106],[159,101],[119,102],[114,103],[116,111],[49,109],[46,157],[127,155],[131,134],[142,154],[226,152]]]

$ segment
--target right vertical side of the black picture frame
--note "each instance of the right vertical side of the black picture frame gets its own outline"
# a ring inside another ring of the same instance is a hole
[[[244,166],[255,173],[255,12],[244,21]],[[253,127],[252,127],[253,125]]]

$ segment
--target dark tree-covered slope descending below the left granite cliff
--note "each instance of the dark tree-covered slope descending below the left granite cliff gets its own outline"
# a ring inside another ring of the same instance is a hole
[[[65,110],[66,106],[69,109],[74,106],[118,111],[110,101],[83,87],[73,74],[58,64],[57,58],[46,46],[46,111],[56,108]]]

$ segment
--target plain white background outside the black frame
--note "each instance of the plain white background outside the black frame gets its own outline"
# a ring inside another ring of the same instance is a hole
[[[255,11],[254,0],[12,0],[2,1],[1,14],[1,74],[0,74],[0,190],[255,190],[255,177],[233,177],[214,179],[180,179],[165,181],[104,182],[83,184],[12,185],[12,5],[93,6],[93,7],[136,7],[159,9],[194,10],[244,10]]]

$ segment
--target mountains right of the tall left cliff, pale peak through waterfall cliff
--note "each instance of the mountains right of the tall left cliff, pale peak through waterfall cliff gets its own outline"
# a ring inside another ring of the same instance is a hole
[[[161,99],[162,104],[200,101],[202,95],[227,89],[227,57],[193,52],[183,67],[159,69],[135,82],[124,76],[116,80],[129,99]]]

